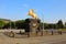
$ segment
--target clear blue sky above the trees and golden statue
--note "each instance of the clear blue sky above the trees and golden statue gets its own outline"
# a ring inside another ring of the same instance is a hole
[[[41,20],[44,15],[44,22],[66,22],[66,0],[0,0],[0,18],[3,19],[28,19],[30,9],[34,9]]]

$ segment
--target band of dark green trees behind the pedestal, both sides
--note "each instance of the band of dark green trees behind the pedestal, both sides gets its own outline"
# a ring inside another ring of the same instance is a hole
[[[38,21],[37,21],[38,22]],[[23,29],[26,26],[26,22],[25,20],[18,20],[18,21],[10,21],[9,23],[6,23],[3,20],[0,20],[0,29],[9,29],[10,28],[10,23],[11,23],[11,29]],[[63,21],[59,20],[57,23],[43,23],[40,22],[40,26],[41,29],[66,29],[66,23],[63,24]]]

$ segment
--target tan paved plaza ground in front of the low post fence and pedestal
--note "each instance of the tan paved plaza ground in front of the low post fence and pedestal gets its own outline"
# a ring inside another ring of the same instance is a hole
[[[46,35],[35,37],[9,37],[0,33],[0,44],[65,44],[66,34],[63,35]]]

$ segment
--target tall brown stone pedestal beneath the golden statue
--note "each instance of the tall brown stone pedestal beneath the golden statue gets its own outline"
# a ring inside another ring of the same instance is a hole
[[[29,30],[29,36],[36,36],[36,30],[38,28],[40,21],[35,19],[26,19],[26,25]]]

